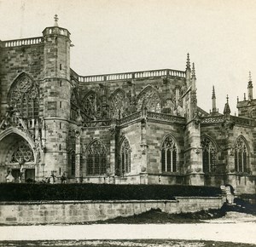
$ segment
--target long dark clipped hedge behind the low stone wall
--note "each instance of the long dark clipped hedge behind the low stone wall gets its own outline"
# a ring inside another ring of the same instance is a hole
[[[132,200],[216,197],[217,187],[113,184],[0,184],[1,201]]]

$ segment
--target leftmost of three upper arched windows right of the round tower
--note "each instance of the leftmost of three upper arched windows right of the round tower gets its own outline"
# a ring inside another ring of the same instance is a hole
[[[88,118],[93,120],[101,118],[102,104],[96,93],[90,92],[84,97],[84,113]]]

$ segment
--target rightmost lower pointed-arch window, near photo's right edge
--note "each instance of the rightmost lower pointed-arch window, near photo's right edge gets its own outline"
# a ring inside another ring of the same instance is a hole
[[[235,142],[235,169],[237,172],[247,172],[247,145],[243,137],[238,137]]]

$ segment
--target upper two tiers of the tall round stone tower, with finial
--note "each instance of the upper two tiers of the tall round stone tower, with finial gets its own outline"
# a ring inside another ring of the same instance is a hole
[[[55,24],[44,36],[44,118],[69,119],[70,108],[70,32]]]

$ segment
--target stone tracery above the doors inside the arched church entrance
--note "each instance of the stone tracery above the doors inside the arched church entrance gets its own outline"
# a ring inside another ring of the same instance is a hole
[[[11,163],[20,163],[34,161],[34,155],[31,146],[26,141],[15,143],[15,152],[11,156]]]

